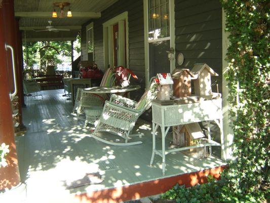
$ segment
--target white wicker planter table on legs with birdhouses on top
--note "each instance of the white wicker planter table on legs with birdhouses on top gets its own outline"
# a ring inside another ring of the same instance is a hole
[[[181,147],[175,149],[165,149],[165,138],[170,129],[170,126],[183,125],[187,123],[195,123],[200,121],[214,120],[220,129],[221,143],[211,140],[210,127],[208,126],[208,141],[204,144],[195,146]],[[159,103],[152,102],[152,156],[150,165],[153,163],[155,154],[162,157],[162,173],[165,175],[165,156],[171,152],[187,150],[191,148],[198,148],[204,146],[220,146],[221,157],[225,159],[224,143],[223,143],[223,130],[222,130],[222,100],[221,98],[204,100],[199,103],[181,104],[181,105],[168,105],[162,106]],[[156,149],[156,131],[158,127],[161,128],[162,133],[162,150]],[[211,153],[211,150],[210,150]]]

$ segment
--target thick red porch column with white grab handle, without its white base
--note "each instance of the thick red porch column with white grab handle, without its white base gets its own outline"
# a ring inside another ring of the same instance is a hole
[[[0,1],[0,145],[9,145],[5,156],[8,165],[0,166],[0,190],[11,189],[19,185],[20,175],[17,161],[14,126],[12,119],[11,95],[16,94],[16,72],[13,65],[16,59],[16,30],[13,1]],[[18,189],[19,190],[19,189]],[[12,198],[10,201],[13,201]]]

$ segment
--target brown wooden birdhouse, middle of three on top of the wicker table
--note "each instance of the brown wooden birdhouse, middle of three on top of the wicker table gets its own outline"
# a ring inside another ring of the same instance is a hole
[[[191,95],[191,78],[194,75],[189,69],[175,69],[172,73],[173,96],[187,97]]]

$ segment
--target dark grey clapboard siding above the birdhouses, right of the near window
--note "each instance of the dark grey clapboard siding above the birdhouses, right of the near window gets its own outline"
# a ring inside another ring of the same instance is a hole
[[[218,0],[175,1],[175,51],[184,55],[176,67],[192,69],[195,63],[207,63],[222,87],[222,7]],[[212,87],[216,92],[216,86]]]

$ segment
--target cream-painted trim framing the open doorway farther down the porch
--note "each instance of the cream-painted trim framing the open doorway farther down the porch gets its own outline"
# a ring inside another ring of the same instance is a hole
[[[124,29],[124,23],[126,22],[126,30]],[[111,18],[110,20],[103,23],[103,50],[104,50],[104,66],[106,67],[108,64],[110,66],[113,66],[113,24],[119,24],[119,38],[122,38],[120,40],[121,42],[125,42],[125,35],[123,31],[126,31],[126,50],[127,50],[127,64],[126,66],[129,68],[129,36],[128,36],[128,12],[124,12],[118,16],[115,16]],[[122,30],[122,33],[121,33]],[[125,55],[125,49],[120,47],[120,63],[121,61],[126,61],[126,59],[123,57]]]

